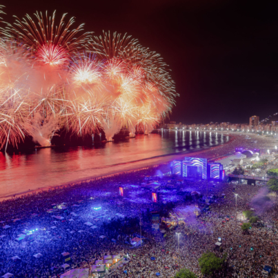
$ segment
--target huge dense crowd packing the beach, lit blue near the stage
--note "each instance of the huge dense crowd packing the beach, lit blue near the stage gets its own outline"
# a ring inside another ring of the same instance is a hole
[[[261,150],[274,143],[260,140]],[[235,136],[198,157],[217,159],[249,142]],[[275,152],[259,159],[259,171],[243,165],[246,175],[277,168]],[[234,170],[207,181],[171,175],[166,163],[6,199],[0,274],[61,277],[79,268],[89,277],[166,278],[187,268],[197,277],[262,277],[264,266],[277,268],[277,195],[264,181],[227,180]],[[198,261],[207,250],[224,258],[211,275]]]

